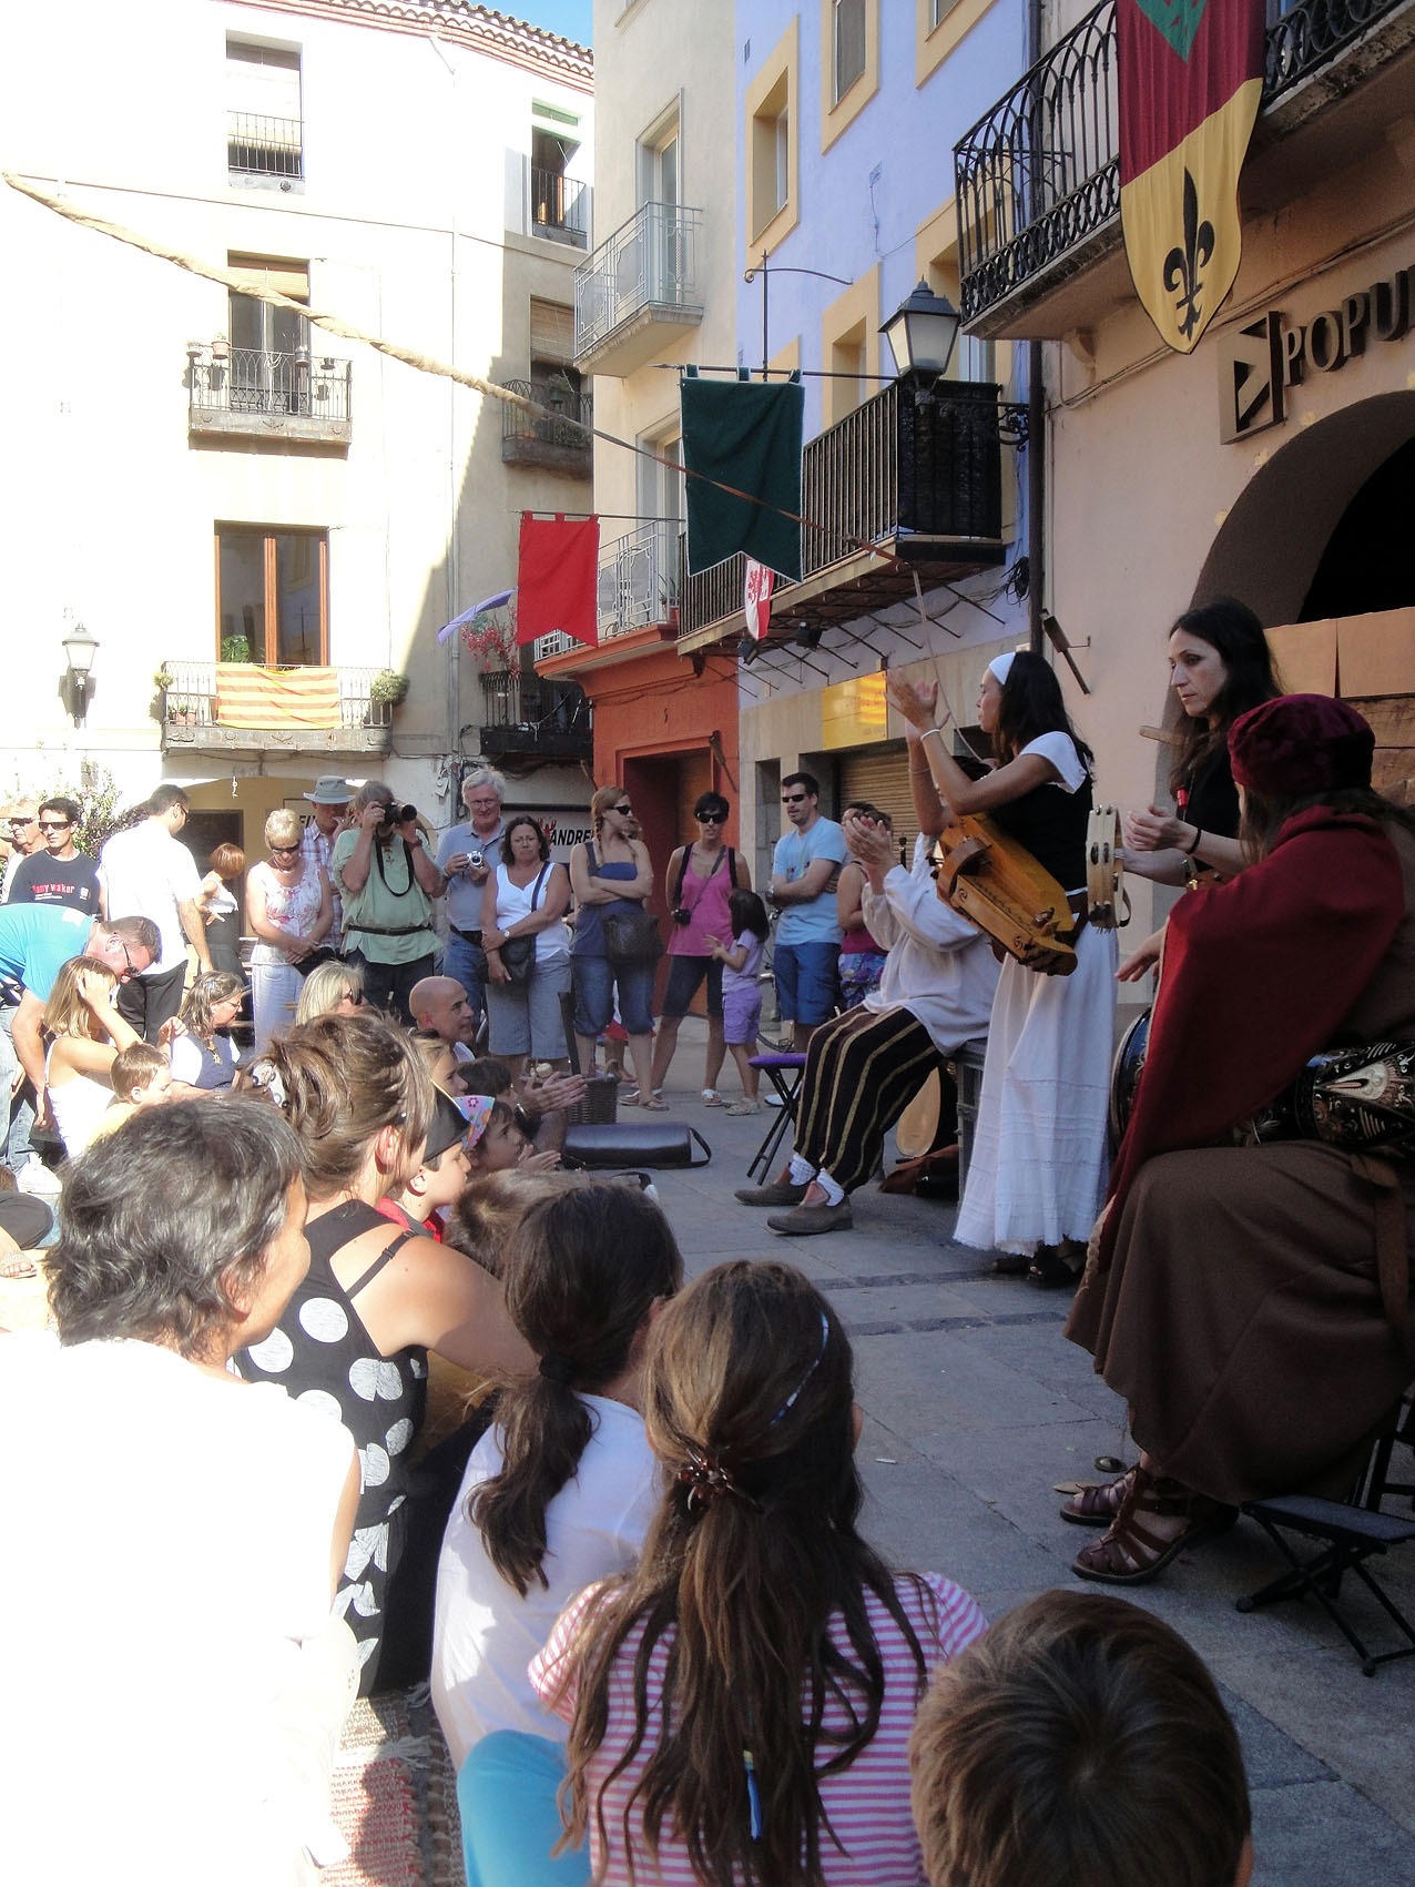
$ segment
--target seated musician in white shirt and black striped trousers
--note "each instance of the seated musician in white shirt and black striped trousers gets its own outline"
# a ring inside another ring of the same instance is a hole
[[[938,1070],[945,1106],[955,1091],[945,1059],[987,1034],[998,964],[989,940],[934,891],[930,847],[941,830],[938,794],[911,747],[921,836],[913,870],[898,862],[892,834],[877,819],[845,813],[851,857],[864,870],[862,913],[885,947],[877,989],[832,1017],[806,1051],[796,1140],[770,1185],[743,1187],[745,1206],[789,1206],[766,1223],[787,1236],[849,1227],[849,1194],[879,1164],[885,1132],[924,1079]]]

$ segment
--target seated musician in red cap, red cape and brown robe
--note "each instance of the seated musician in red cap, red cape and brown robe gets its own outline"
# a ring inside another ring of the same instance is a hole
[[[1345,702],[1264,702],[1228,749],[1257,862],[1170,915],[1149,1060],[1066,1327],[1141,1447],[1062,1508],[1107,1528],[1074,1572],[1109,1585],[1153,1579],[1243,1500],[1341,1496],[1415,1368],[1409,1162],[1234,1144],[1319,1051],[1415,1040],[1415,813],[1370,791],[1373,736]]]

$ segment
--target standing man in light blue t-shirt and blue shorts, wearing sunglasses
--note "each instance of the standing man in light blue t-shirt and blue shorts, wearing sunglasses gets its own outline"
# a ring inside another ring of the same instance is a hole
[[[787,774],[781,804],[791,832],[775,842],[766,902],[781,915],[775,927],[777,1006],[791,1017],[798,1055],[836,1008],[840,938],[836,881],[849,857],[845,834],[819,811],[821,785],[811,774]]]

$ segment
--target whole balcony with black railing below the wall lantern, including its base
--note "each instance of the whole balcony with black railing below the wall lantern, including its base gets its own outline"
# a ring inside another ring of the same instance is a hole
[[[957,581],[1006,559],[998,387],[892,381],[802,453],[802,579],[777,579],[772,628],[849,623],[913,596],[913,576]],[[875,549],[870,549],[875,545]],[[745,564],[687,577],[679,651],[743,630]]]

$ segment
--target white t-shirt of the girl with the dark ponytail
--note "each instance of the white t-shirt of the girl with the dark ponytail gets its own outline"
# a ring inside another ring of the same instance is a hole
[[[623,1402],[581,1396],[594,1434],[579,1472],[545,1510],[543,1561],[549,1589],[530,1581],[524,1598],[487,1557],[468,1498],[502,1468],[502,1434],[489,1428],[472,1449],[438,1561],[432,1627],[432,1704],[441,1734],[462,1766],[472,1744],[492,1730],[566,1740],[566,1725],[545,1715],[526,1668],[555,1621],[583,1587],[624,1572],[640,1555],[658,1504],[658,1462],[643,1419]]]

